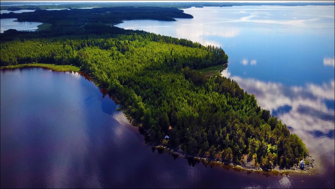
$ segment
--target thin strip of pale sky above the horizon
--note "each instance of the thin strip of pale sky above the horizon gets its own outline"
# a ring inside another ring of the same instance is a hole
[[[285,0],[274,0],[274,1],[260,1],[260,0],[152,0],[152,1],[148,1],[148,0],[115,0],[115,1],[108,1],[108,0],[97,0],[99,2],[260,2],[260,3],[284,3],[284,2],[335,2],[335,0],[293,0],[293,1],[285,1]],[[72,1],[65,1],[65,0],[51,0],[51,1],[46,1],[46,0],[9,0],[9,1],[5,1],[5,0],[0,0],[0,2],[97,2],[97,1],[92,1],[92,0],[72,0]]]

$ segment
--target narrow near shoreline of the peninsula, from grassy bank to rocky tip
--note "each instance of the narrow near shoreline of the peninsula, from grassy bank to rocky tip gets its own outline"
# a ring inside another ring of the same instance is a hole
[[[65,68],[62,67],[62,66],[65,66]],[[79,68],[75,67],[75,66],[32,63],[32,64],[16,64],[16,65],[9,65],[9,66],[1,66],[0,68],[1,69],[15,69],[15,68],[26,68],[26,67],[42,67],[42,68],[50,69],[54,72],[72,72],[73,71],[73,72],[81,73],[81,76],[83,76],[88,81],[93,82],[99,88],[100,92],[103,93],[103,95],[108,95],[114,101],[114,103],[119,104],[118,103],[119,101],[114,97],[113,93],[109,93],[107,91],[107,89],[100,88],[99,85],[97,85],[98,83],[96,81],[94,81],[94,78],[92,78],[91,76],[89,76],[85,72],[80,72]],[[72,69],[70,69],[70,68],[72,68]],[[125,113],[124,106],[122,104],[119,104],[119,105],[120,105],[120,108],[121,108],[119,111],[121,111],[121,110],[123,111],[127,120],[129,121],[129,123],[131,125],[133,125],[134,127],[139,128],[140,134],[143,135],[145,139],[150,138],[150,131],[145,130],[144,128],[142,128],[142,124],[136,123],[130,115]],[[313,170],[313,168],[316,167],[315,158],[313,158],[310,153],[308,153],[306,158],[304,158],[305,161],[307,160],[306,164],[305,164],[305,169],[300,169],[299,168],[299,163],[297,163],[293,167],[290,167],[290,168],[287,168],[287,169],[286,168],[280,169],[278,166],[276,166],[275,168],[273,168],[271,170],[270,169],[265,170],[265,169],[262,169],[260,166],[256,167],[254,165],[251,165],[250,162],[244,161],[246,158],[244,158],[240,163],[223,162],[223,161],[220,161],[219,159],[211,159],[209,157],[194,156],[194,155],[187,154],[182,149],[180,149],[180,146],[176,147],[176,148],[170,148],[170,147],[164,146],[162,143],[155,143],[155,142],[152,142],[150,140],[147,141],[147,142],[148,142],[147,145],[151,146],[152,148],[164,149],[164,150],[170,151],[174,155],[182,156],[182,157],[185,157],[185,158],[193,158],[193,159],[203,161],[203,162],[206,162],[206,163],[217,163],[217,164],[222,165],[222,166],[227,166],[227,167],[230,167],[230,168],[238,168],[240,170],[247,171],[247,172],[250,172],[250,171],[251,172],[263,172],[263,173],[269,173],[269,174],[274,174],[273,173],[274,171],[277,172],[277,173],[278,172],[279,173],[289,173],[289,172],[310,173],[311,170]]]

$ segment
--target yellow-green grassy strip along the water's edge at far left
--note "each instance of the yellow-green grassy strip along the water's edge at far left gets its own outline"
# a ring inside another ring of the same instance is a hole
[[[79,67],[72,66],[72,65],[55,65],[55,64],[40,64],[40,63],[32,63],[32,64],[16,64],[16,65],[9,65],[3,66],[1,68],[20,68],[20,67],[44,67],[49,68],[57,72],[79,72]]]

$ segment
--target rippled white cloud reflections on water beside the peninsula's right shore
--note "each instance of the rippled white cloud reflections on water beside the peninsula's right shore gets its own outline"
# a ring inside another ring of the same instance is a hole
[[[287,87],[281,83],[233,76],[228,70],[221,74],[237,81],[249,94],[254,94],[262,108],[269,109],[288,125],[309,149],[322,150],[318,154],[327,154],[334,165],[334,80],[322,85],[307,83],[305,86]]]

